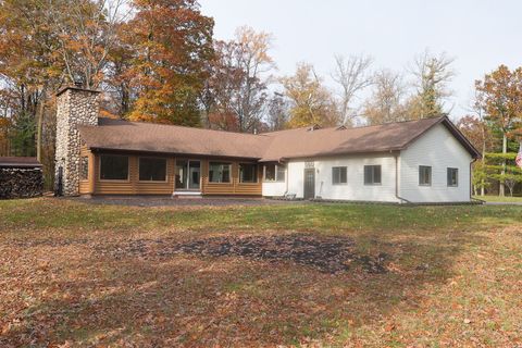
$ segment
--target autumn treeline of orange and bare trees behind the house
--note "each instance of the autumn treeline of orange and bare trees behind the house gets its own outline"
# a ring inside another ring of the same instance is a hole
[[[105,116],[248,133],[449,112],[455,72],[444,53],[426,51],[406,72],[375,70],[359,54],[336,55],[327,76],[308,63],[278,76],[268,33],[240,27],[216,40],[196,0],[124,1],[0,0],[0,156],[38,156],[52,182],[54,94],[71,84],[105,91]],[[504,134],[509,152],[514,135],[497,119],[484,107],[462,127],[474,134],[478,120],[486,150]]]

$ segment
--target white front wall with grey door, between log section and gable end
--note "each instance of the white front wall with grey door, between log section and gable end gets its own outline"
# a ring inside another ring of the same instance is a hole
[[[309,162],[309,161],[307,161]],[[286,183],[263,183],[263,196],[296,195],[304,196],[304,163],[293,160],[287,164],[288,191]],[[315,169],[315,197],[323,199],[355,201],[398,202],[395,196],[395,157],[393,154],[351,156],[322,158],[313,161]],[[382,166],[382,184],[364,185],[364,165]],[[332,167],[346,166],[348,183],[332,184]]]

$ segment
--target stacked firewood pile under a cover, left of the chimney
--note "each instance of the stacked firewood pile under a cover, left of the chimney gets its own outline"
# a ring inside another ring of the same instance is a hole
[[[42,191],[41,167],[0,167],[0,199],[38,197]]]

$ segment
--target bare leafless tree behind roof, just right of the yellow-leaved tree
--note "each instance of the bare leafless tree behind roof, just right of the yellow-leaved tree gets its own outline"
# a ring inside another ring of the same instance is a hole
[[[331,76],[340,86],[338,109],[344,125],[352,123],[353,113],[350,110],[357,92],[372,84],[372,75],[369,73],[372,62],[371,57],[363,54],[349,58],[335,55],[335,70]]]

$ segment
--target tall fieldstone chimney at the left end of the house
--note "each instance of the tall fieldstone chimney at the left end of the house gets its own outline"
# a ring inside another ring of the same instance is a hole
[[[79,87],[65,87],[57,94],[57,152],[55,185],[62,171],[62,194],[79,195],[78,125],[98,125],[99,91]]]

